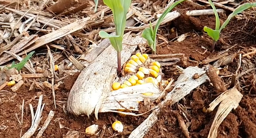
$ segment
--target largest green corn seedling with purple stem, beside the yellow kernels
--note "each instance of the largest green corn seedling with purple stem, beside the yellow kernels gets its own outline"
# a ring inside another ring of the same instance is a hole
[[[131,0],[103,0],[103,2],[113,12],[116,34],[109,35],[105,31],[99,31],[99,36],[101,38],[109,38],[111,45],[117,51],[117,74],[119,77],[121,77],[121,51],[123,50],[122,42],[126,24],[126,14],[130,7]]]

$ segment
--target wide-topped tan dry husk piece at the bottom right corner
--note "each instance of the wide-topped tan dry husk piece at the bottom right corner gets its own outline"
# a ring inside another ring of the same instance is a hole
[[[218,105],[219,107],[207,138],[217,138],[218,128],[222,121],[227,117],[231,110],[236,109],[239,106],[239,102],[241,101],[242,97],[243,95],[236,88],[232,88],[226,92],[223,92],[210,103],[210,107],[207,109],[207,111],[213,111]]]

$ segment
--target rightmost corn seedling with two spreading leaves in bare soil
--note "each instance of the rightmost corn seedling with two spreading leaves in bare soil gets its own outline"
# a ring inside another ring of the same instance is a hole
[[[235,15],[237,15],[238,13],[241,13],[242,11],[251,8],[251,7],[255,7],[256,3],[244,3],[240,6],[238,6],[236,9],[234,9],[234,11],[227,17],[226,21],[221,25],[221,28],[219,28],[220,26],[220,21],[219,21],[219,16],[218,16],[218,12],[214,6],[214,4],[212,3],[211,0],[208,0],[213,11],[215,14],[215,30],[209,28],[209,27],[204,27],[204,31],[207,32],[208,36],[210,36],[213,40],[212,46],[211,46],[211,52],[214,50],[215,44],[216,42],[219,40],[219,34],[221,33],[221,30],[223,28],[226,27],[226,25],[229,23],[229,21],[231,20],[232,17],[234,17]]]

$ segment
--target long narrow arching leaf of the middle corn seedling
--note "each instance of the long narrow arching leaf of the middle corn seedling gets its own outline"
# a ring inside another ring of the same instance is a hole
[[[159,17],[158,21],[157,21],[157,24],[155,25],[155,28],[154,28],[154,31],[153,31],[153,38],[154,38],[154,44],[153,44],[153,50],[155,51],[155,46],[156,46],[156,37],[157,37],[157,29],[160,25],[160,23],[162,22],[163,18],[167,15],[167,13],[169,13],[176,5],[178,5],[179,3],[183,2],[185,0],[179,0],[179,1],[176,1],[175,3],[173,3],[169,8],[167,8],[163,13],[162,15]]]

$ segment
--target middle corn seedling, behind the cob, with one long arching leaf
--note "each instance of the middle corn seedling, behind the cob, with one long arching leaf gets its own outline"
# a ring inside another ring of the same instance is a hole
[[[163,18],[167,15],[167,13],[169,13],[176,5],[178,5],[179,3],[183,2],[185,0],[179,0],[176,1],[175,3],[173,3],[172,5],[170,5],[169,8],[167,8],[162,15],[159,17],[157,24],[155,25],[155,28],[153,29],[152,24],[150,22],[150,28],[146,28],[143,30],[142,32],[142,37],[145,38],[148,42],[148,45],[150,45],[151,49],[152,49],[152,54],[156,54],[156,37],[157,37],[157,29],[160,25],[160,23],[162,22]]]

